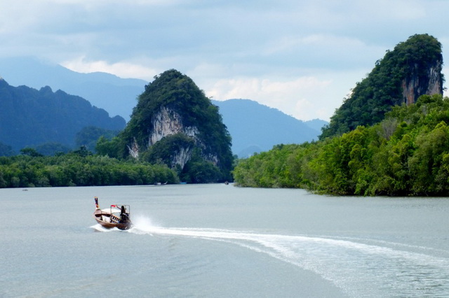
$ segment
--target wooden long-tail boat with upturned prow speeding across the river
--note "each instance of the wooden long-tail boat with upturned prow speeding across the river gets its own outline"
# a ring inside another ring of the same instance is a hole
[[[117,229],[129,229],[133,226],[129,218],[129,205],[111,205],[109,208],[100,209],[98,197],[95,197],[95,211],[93,218],[107,229],[116,227]]]

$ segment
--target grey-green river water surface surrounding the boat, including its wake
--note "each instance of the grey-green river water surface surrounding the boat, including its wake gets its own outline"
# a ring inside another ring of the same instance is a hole
[[[135,227],[95,224],[128,204]],[[449,199],[232,185],[0,190],[0,297],[449,297]]]

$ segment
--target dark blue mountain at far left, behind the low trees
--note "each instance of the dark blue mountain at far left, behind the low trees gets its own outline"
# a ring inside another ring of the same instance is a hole
[[[13,87],[0,79],[0,143],[13,150],[43,143],[73,147],[84,127],[121,130],[125,124],[120,116],[110,118],[81,97],[51,87]]]

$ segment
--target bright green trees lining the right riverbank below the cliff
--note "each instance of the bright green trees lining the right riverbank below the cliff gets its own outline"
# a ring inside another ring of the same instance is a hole
[[[449,98],[424,95],[382,122],[243,159],[238,185],[301,187],[326,194],[447,195]]]

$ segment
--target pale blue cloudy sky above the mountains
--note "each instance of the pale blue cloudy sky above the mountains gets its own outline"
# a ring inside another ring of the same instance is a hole
[[[147,81],[177,69],[213,99],[329,120],[409,36],[438,38],[449,59],[448,12],[449,0],[2,0],[0,57]]]

